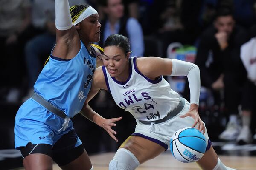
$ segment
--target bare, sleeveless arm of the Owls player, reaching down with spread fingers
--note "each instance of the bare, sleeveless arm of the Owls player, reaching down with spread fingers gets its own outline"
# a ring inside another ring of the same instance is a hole
[[[84,106],[80,113],[89,119],[90,121],[96,123],[103,129],[105,129],[108,134],[116,141],[116,132],[111,129],[112,126],[116,126],[114,122],[119,121],[122,119],[122,117],[119,118],[111,118],[111,119],[105,119],[102,116],[100,116],[98,113],[93,111],[93,109],[88,105],[88,102],[99,92],[100,89],[107,90],[107,85],[105,83],[105,78],[102,72],[102,67],[99,67],[95,70],[95,73],[93,74],[93,80],[92,80],[92,87],[90,88],[90,92],[87,96],[87,99],[84,102]]]

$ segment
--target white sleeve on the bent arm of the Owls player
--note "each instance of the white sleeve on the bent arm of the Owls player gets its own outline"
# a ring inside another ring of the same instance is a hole
[[[200,70],[191,62],[172,59],[171,76],[187,76],[190,89],[190,103],[199,104],[200,95]]]

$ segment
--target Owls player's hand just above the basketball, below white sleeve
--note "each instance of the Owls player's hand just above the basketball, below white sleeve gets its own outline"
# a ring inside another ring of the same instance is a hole
[[[192,117],[195,120],[194,125],[192,126],[192,128],[194,128],[196,125],[198,125],[197,129],[201,132],[201,133],[205,133],[205,126],[204,126],[204,122],[201,120],[198,111],[196,109],[190,109],[189,112],[187,112],[184,115],[181,115],[181,118],[185,118],[185,117]]]

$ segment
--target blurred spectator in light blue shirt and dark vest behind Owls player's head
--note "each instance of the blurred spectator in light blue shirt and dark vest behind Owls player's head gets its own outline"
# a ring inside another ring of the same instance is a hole
[[[143,56],[144,42],[142,28],[135,18],[124,15],[122,0],[102,0],[102,6],[107,17],[101,22],[101,40],[99,45],[102,46],[111,34],[122,34],[130,40],[131,55]]]

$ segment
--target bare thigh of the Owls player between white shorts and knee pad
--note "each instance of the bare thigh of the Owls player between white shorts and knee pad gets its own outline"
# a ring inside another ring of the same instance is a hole
[[[153,159],[165,151],[165,148],[160,144],[140,136],[129,136],[119,148],[130,150],[131,153],[136,156],[140,164],[149,159]]]

